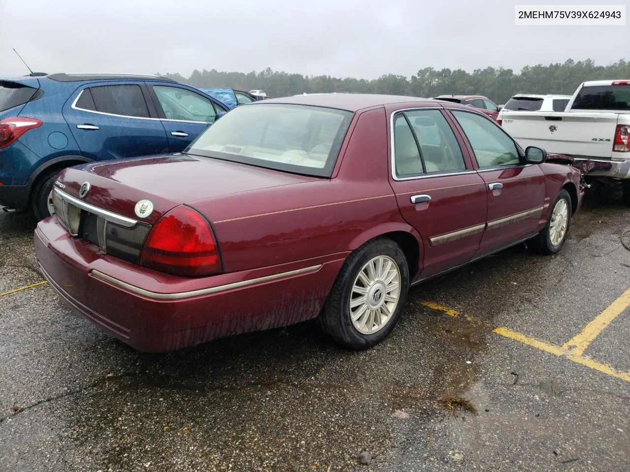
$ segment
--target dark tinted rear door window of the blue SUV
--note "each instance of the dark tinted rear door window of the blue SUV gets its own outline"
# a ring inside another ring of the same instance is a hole
[[[138,85],[108,85],[85,89],[76,108],[110,115],[149,118],[149,109]]]

